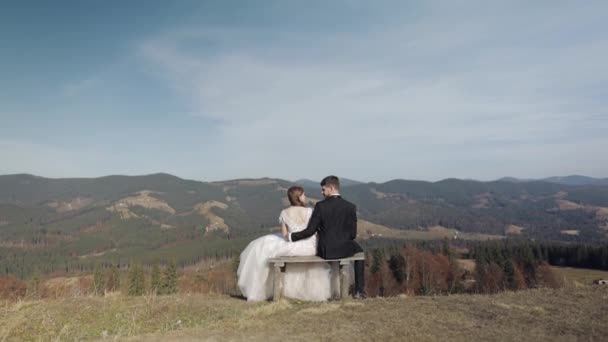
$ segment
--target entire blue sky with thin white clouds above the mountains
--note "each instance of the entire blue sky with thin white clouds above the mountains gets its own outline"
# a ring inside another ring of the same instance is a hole
[[[2,1],[0,174],[608,176],[605,1]]]

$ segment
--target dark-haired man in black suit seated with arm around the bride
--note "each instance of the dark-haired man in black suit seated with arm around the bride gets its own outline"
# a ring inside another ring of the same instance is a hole
[[[357,208],[340,196],[340,180],[327,176],[321,181],[324,200],[317,202],[306,229],[289,234],[295,242],[319,233],[317,255],[323,259],[340,259],[363,252],[357,237]],[[355,298],[365,298],[364,261],[355,261]]]

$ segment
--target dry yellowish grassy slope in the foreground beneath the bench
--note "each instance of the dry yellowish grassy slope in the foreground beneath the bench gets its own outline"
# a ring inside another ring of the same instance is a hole
[[[5,303],[0,340],[601,340],[607,309],[608,287],[589,286],[325,304],[85,297]]]

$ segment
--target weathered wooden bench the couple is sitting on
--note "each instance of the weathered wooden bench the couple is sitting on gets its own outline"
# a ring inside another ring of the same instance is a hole
[[[348,297],[348,288],[350,285],[350,272],[348,266],[351,261],[365,260],[365,253],[357,253],[351,257],[342,259],[322,259],[318,256],[289,256],[289,257],[276,257],[269,259],[268,262],[272,265],[274,270],[274,293],[272,300],[279,300],[283,293],[283,277],[285,275],[285,266],[290,263],[315,263],[315,262],[327,262],[332,266],[332,279],[331,286],[339,283],[338,288],[340,289],[340,298],[345,299]],[[339,269],[339,272],[336,272]],[[339,273],[339,275],[338,275]],[[337,289],[332,288],[332,295],[336,293]]]

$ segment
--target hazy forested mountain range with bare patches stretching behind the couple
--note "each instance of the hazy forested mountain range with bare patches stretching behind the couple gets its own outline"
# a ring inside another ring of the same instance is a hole
[[[299,180],[319,200],[319,184]],[[531,238],[607,241],[608,186],[446,179],[342,181],[359,238]],[[49,179],[0,176],[0,270],[91,268],[95,263],[195,263],[233,256],[277,231],[295,182],[200,182],[169,174]],[[364,241],[365,242],[365,241]]]

